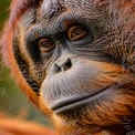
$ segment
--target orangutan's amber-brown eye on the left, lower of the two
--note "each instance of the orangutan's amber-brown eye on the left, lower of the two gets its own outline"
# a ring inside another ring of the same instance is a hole
[[[45,38],[39,40],[38,45],[41,49],[41,51],[43,51],[43,52],[49,52],[55,48],[54,42],[52,40],[45,39]]]

